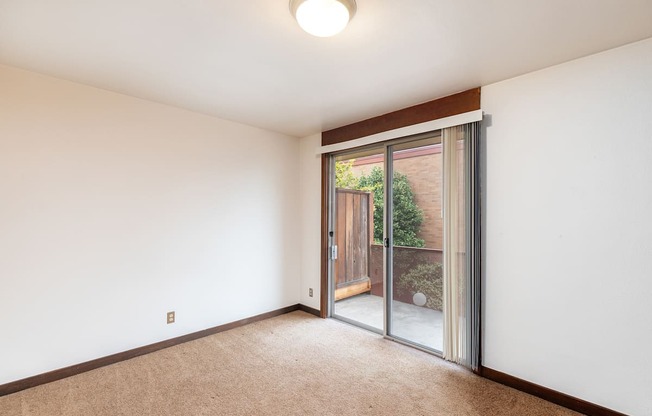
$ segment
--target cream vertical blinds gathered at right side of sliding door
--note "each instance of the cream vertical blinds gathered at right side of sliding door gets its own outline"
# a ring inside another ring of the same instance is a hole
[[[480,362],[479,123],[443,129],[445,359]]]

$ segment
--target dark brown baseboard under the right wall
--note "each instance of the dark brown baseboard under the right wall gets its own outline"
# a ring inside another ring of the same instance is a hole
[[[551,403],[564,406],[568,409],[575,410],[576,412],[583,413],[589,416],[626,416],[623,413],[616,412],[615,410],[607,409],[606,407],[587,402],[577,397],[569,396],[565,393],[531,383],[529,381],[502,373],[500,371],[491,369],[489,367],[480,367],[479,374],[489,380],[495,381],[505,386],[520,390],[524,393],[531,394],[541,399],[547,400]]]

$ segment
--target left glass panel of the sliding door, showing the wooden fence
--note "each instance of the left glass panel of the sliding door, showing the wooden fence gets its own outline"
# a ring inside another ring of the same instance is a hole
[[[332,314],[382,333],[384,147],[333,159]]]

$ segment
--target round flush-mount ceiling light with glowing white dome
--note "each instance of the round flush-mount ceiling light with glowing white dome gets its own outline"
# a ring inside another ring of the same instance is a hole
[[[301,29],[322,38],[340,33],[356,11],[355,0],[290,0]]]

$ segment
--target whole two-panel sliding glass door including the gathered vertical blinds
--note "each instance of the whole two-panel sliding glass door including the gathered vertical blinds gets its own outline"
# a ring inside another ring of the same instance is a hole
[[[473,368],[477,124],[331,155],[331,316]]]

